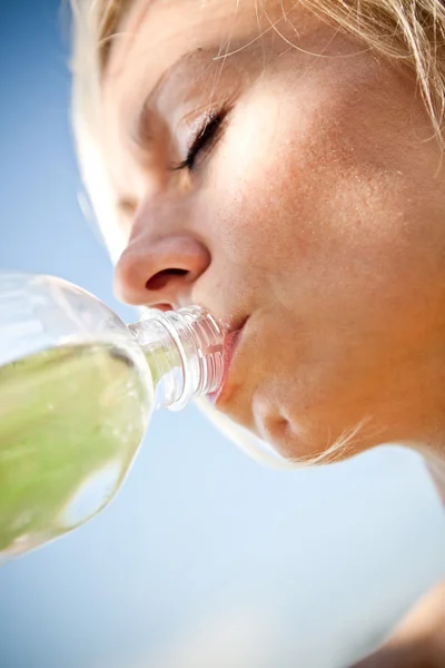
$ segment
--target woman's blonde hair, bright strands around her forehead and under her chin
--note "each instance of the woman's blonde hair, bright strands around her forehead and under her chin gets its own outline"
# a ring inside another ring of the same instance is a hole
[[[149,0],[147,0],[149,1]],[[239,1],[239,0],[237,0]],[[267,0],[253,0],[258,9]],[[100,90],[112,40],[135,0],[71,0],[73,16],[72,122],[82,180],[99,223],[102,238],[116,261],[125,245],[115,209],[100,141]],[[235,0],[234,0],[235,2]],[[444,146],[445,8],[442,0],[300,0],[312,11],[358,38],[376,53],[411,70],[417,80],[434,135]],[[297,2],[296,2],[297,3]],[[208,416],[258,461],[288,465],[270,454],[266,443],[230,420],[198,402]],[[340,456],[362,428],[343,434],[325,453],[310,460]],[[299,463],[290,463],[290,465]]]

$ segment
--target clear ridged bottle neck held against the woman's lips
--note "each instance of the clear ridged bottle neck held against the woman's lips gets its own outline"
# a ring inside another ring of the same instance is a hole
[[[180,411],[222,382],[224,331],[200,306],[149,308],[128,328],[140,345],[154,382],[154,409]]]

